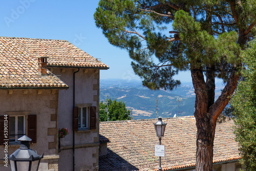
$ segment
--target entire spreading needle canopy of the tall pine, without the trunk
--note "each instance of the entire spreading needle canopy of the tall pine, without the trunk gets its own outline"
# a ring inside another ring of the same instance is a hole
[[[94,18],[112,45],[129,52],[144,86],[173,90],[180,84],[173,78],[179,71],[206,71],[211,64],[216,77],[225,82],[228,71],[240,65],[244,47],[238,44],[238,29],[248,27],[256,17],[255,1],[237,5],[238,25],[230,4],[217,0],[101,0]],[[177,33],[168,33],[172,30]]]

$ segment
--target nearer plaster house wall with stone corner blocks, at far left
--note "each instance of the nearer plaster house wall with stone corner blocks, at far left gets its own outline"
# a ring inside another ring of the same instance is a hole
[[[37,151],[37,154],[44,153],[47,156],[57,155],[58,152],[58,90],[53,89],[13,89],[0,90],[0,115],[18,116],[36,115],[36,143],[30,145],[30,148]],[[26,118],[26,135],[27,118]],[[11,155],[18,144],[8,146],[8,155]],[[0,170],[10,170],[4,167],[4,146],[0,145]],[[57,168],[58,159],[49,161],[49,168],[54,165]],[[57,163],[56,163],[57,162]]]

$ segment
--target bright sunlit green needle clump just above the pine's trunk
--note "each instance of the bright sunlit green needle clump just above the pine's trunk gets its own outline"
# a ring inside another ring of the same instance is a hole
[[[224,32],[216,39],[214,35],[202,30],[201,24],[195,22],[188,13],[180,10],[175,16],[173,27],[180,32],[184,53],[195,68],[205,67],[209,63],[218,65],[221,61],[224,61],[225,65],[241,62],[239,59],[241,48],[237,44],[236,32]],[[224,65],[218,67],[222,70],[228,69]]]

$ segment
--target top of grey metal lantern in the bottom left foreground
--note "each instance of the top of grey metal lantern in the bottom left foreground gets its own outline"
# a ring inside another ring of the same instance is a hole
[[[19,149],[8,156],[11,171],[37,171],[40,160],[44,158],[44,153],[39,156],[36,152],[30,149],[30,139],[26,135],[20,137]]]

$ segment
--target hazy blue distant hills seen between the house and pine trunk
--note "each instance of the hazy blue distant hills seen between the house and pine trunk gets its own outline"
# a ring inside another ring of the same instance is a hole
[[[216,88],[221,92],[221,84]],[[139,80],[103,79],[100,80],[100,101],[107,98],[122,100],[132,110],[134,119],[192,116],[195,111],[195,92],[192,83],[182,83],[173,91],[149,90]],[[177,101],[180,100],[180,101]],[[156,104],[157,100],[157,104]]]

